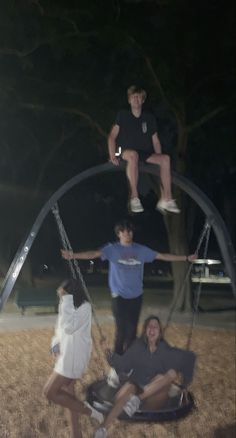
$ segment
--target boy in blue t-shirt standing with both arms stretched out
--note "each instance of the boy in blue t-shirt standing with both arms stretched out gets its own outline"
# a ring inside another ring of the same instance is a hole
[[[67,260],[93,260],[101,258],[109,262],[109,287],[112,299],[112,313],[115,319],[114,351],[122,355],[132,344],[143,301],[144,264],[154,260],[186,262],[196,259],[196,254],[163,254],[133,241],[134,228],[128,220],[115,226],[118,242],[109,243],[101,249],[73,252],[61,250]]]

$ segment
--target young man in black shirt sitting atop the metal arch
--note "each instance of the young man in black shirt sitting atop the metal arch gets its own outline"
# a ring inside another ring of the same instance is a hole
[[[110,161],[115,166],[120,162],[116,156],[117,147],[121,148],[121,158],[127,162],[130,210],[133,213],[143,212],[137,190],[138,162],[143,161],[160,167],[161,198],[156,208],[162,213],[180,213],[172,198],[170,158],[162,153],[155,117],[142,109],[147,93],[142,88],[132,85],[128,88],[127,95],[130,110],[118,112],[108,136],[108,150]]]

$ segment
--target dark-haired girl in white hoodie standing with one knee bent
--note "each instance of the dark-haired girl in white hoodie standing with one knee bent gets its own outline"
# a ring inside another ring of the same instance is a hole
[[[64,281],[57,294],[59,313],[51,343],[56,361],[43,393],[49,401],[69,409],[72,438],[81,438],[81,414],[103,421],[102,414],[75,396],[76,380],[85,372],[92,350],[92,309],[78,280]]]

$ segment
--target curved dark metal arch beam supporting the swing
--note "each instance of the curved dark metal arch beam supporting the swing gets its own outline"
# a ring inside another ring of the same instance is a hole
[[[140,163],[139,169],[141,172],[146,172],[151,175],[159,176],[159,167],[151,164]],[[65,182],[44,204],[40,210],[26,240],[18,248],[15,257],[11,263],[11,266],[7,272],[7,275],[2,284],[0,293],[0,310],[3,308],[4,303],[8,299],[11,291],[15,285],[18,275],[22,269],[22,266],[26,260],[26,257],[31,249],[31,246],[38,234],[38,231],[47,216],[51,211],[54,204],[72,187],[82,181],[91,178],[95,175],[107,173],[107,172],[120,172],[125,170],[125,163],[121,163],[120,166],[113,166],[111,163],[101,164],[91,169],[85,170],[84,172],[74,176],[67,182]],[[233,289],[234,296],[236,298],[236,276],[235,276],[235,264],[236,257],[234,253],[234,248],[226,228],[226,225],[220,216],[218,210],[211,202],[211,200],[191,181],[187,178],[172,172],[172,182],[185,193],[187,193],[203,210],[206,215],[208,223],[214,229],[216,238],[218,240],[219,247],[222,252],[223,260],[225,266],[227,267],[227,273],[231,279],[231,285]]]

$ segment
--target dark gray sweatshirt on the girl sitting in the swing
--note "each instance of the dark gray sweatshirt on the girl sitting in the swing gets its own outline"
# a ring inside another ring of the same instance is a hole
[[[157,349],[151,353],[142,338],[136,339],[126,352],[120,356],[112,353],[108,362],[118,374],[131,374],[132,382],[143,387],[157,374],[164,374],[170,369],[180,372],[183,384],[187,386],[192,378],[196,355],[192,351],[171,347],[166,341],[161,340]]]

